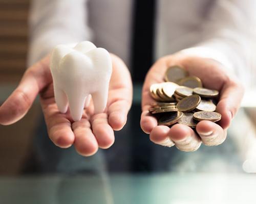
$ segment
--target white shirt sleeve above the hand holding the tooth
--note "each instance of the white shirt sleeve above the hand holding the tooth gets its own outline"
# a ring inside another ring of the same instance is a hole
[[[87,0],[33,0],[29,27],[28,65],[46,56],[54,46],[90,40]]]

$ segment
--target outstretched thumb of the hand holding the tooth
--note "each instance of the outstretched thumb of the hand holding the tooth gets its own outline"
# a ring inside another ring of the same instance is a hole
[[[36,95],[51,81],[49,59],[45,58],[30,67],[18,87],[0,107],[0,124],[12,124],[23,118]]]

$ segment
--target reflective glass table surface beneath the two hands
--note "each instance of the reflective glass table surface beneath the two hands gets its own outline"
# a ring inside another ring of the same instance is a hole
[[[1,175],[0,203],[256,203],[256,177],[246,173],[256,172],[253,111],[239,111],[223,144],[182,152],[150,142],[135,103],[113,147],[93,157],[37,141],[40,170]]]

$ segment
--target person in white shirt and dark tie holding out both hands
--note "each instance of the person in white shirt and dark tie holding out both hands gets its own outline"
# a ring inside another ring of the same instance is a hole
[[[145,7],[148,4],[139,2]],[[125,64],[131,64],[134,4],[130,0],[34,0],[30,15],[31,66],[0,107],[0,123],[9,125],[21,119],[39,93],[48,134],[55,145],[61,148],[74,145],[82,156],[110,147],[114,131],[122,129],[132,104],[132,80]],[[154,143],[175,144],[180,150],[195,150],[201,142],[221,144],[241,103],[244,92],[241,82],[248,79],[245,68],[251,55],[255,1],[161,0],[155,4],[156,62],[147,67],[150,69],[143,84],[141,129]],[[115,54],[112,54],[113,75],[105,112],[94,115],[86,111],[80,121],[73,122],[69,112],[60,114],[57,110],[49,53],[57,44],[83,40],[91,40]],[[171,65],[183,66],[189,74],[199,77],[205,87],[220,91],[217,111],[222,119],[218,124],[201,121],[196,132],[182,124],[171,128],[157,125],[157,120],[148,113],[153,102],[149,89],[163,81],[164,72]]]

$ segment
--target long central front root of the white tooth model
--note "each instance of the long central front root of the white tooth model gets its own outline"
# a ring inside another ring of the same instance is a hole
[[[70,114],[74,121],[78,121],[82,118],[84,103],[86,101],[86,96],[81,94],[81,92],[77,93],[68,93],[68,99],[69,99],[69,108],[70,108]]]

